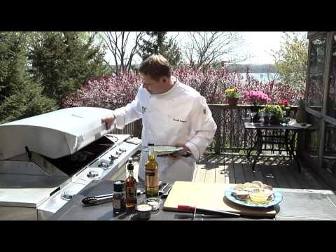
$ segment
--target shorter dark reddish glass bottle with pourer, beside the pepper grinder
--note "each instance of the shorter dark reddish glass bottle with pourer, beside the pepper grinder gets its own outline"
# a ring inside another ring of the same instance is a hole
[[[137,206],[137,181],[134,179],[133,170],[134,166],[132,164],[132,158],[128,159],[127,172],[128,177],[125,181],[126,189],[126,209],[127,211],[134,210]]]

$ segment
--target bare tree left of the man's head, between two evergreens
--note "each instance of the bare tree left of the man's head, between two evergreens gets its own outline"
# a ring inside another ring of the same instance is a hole
[[[137,54],[139,41],[144,36],[144,31],[135,31],[135,38],[132,41],[131,49],[129,37],[131,31],[104,31],[102,38],[109,50],[112,52],[114,62],[116,63],[116,72],[122,73],[124,69],[130,71],[134,55]]]

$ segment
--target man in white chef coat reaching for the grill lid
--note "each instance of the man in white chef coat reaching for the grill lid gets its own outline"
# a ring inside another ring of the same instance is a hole
[[[116,124],[123,129],[142,118],[142,146],[183,146],[188,158],[155,158],[163,182],[192,181],[195,162],[214,139],[217,125],[207,101],[199,92],[172,76],[165,57],[152,55],[139,68],[142,85],[134,101],[102,118],[107,129]],[[139,181],[145,180],[148,153],[142,152]]]

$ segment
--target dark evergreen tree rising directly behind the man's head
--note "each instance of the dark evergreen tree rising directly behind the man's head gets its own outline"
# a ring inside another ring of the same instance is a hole
[[[173,38],[167,41],[167,31],[147,31],[148,39],[143,38],[139,45],[139,55],[144,60],[151,55],[162,55],[176,66],[181,61],[181,50]]]

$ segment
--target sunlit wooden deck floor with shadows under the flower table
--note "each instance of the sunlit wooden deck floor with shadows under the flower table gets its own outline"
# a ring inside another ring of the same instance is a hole
[[[203,155],[197,163],[193,181],[204,183],[245,183],[262,181],[275,188],[335,190],[301,163],[298,172],[294,160],[262,156],[252,171],[246,155]]]

